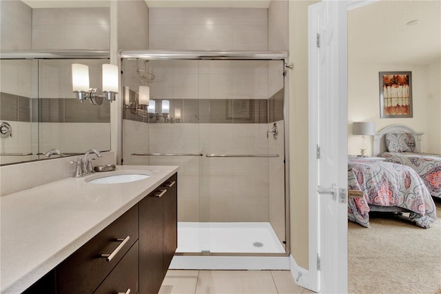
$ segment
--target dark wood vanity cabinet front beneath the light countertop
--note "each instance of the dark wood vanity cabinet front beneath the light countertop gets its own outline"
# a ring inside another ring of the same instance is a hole
[[[23,293],[158,293],[177,247],[177,181],[175,173]]]

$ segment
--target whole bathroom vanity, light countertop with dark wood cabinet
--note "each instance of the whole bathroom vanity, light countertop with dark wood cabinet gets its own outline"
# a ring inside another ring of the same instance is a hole
[[[149,176],[3,196],[1,293],[158,293],[177,246],[177,169],[118,166],[110,173]]]

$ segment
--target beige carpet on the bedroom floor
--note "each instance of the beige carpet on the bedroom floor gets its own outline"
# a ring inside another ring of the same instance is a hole
[[[349,293],[441,293],[441,201],[432,228],[374,215],[349,222]]]

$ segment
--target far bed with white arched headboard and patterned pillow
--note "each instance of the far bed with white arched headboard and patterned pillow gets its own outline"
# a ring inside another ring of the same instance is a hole
[[[441,155],[420,153],[421,135],[407,126],[388,126],[375,135],[373,154],[410,166],[420,175],[431,195],[441,198]]]

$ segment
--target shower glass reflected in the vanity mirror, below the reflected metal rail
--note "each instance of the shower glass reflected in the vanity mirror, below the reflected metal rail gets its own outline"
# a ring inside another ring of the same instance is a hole
[[[89,66],[90,86],[101,88],[108,59],[1,59],[0,164],[48,159],[90,148],[110,150],[110,103],[75,99],[72,63]]]

